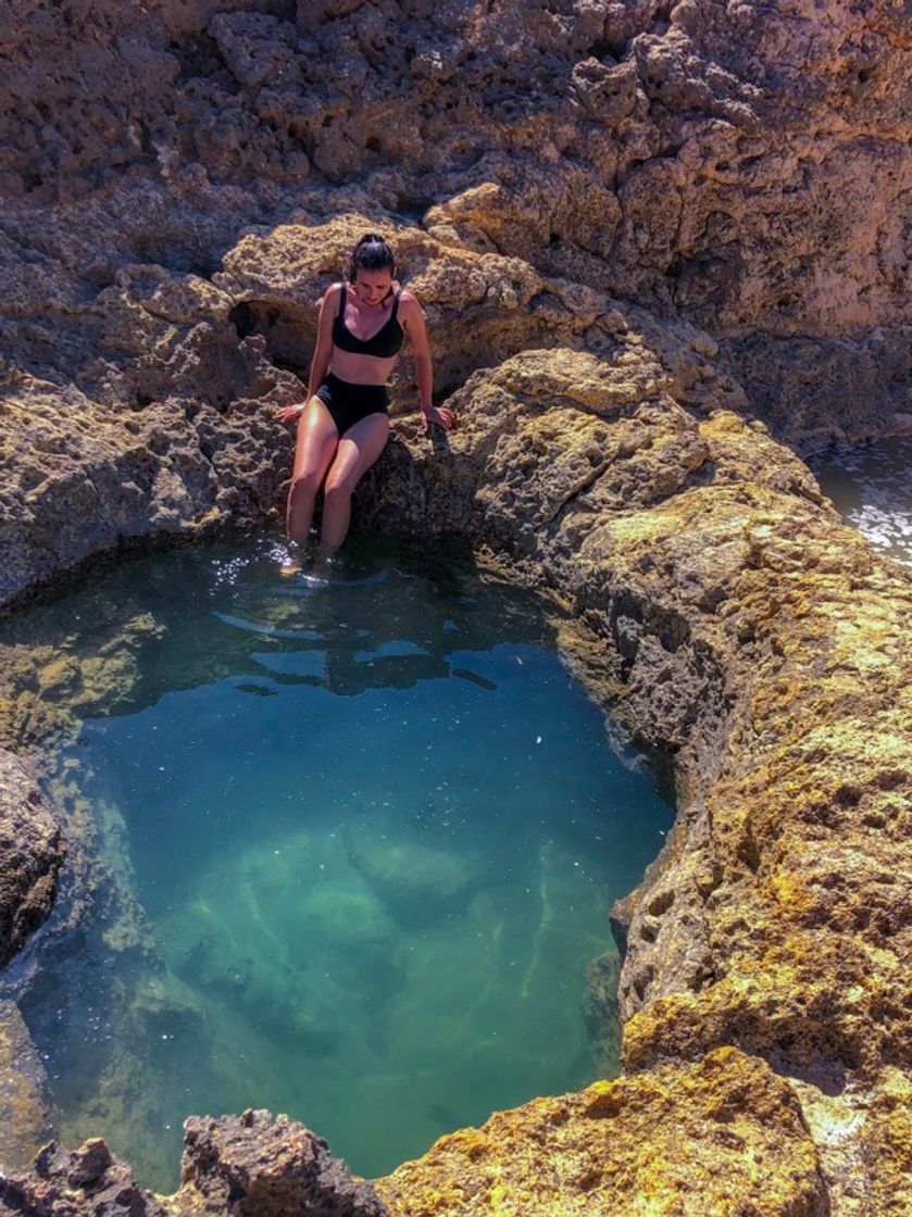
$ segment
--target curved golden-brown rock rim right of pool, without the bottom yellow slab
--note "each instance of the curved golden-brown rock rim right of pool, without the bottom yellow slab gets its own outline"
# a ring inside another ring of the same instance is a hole
[[[556,590],[616,712],[677,755],[675,834],[616,910],[628,1081],[734,1044],[819,1110],[841,1095],[833,1199],[901,1212],[863,1163],[906,1161],[871,1111],[910,1112],[912,576],[762,425],[682,409],[648,350],[526,352],[451,404],[436,450],[392,449],[374,520],[464,529]]]

